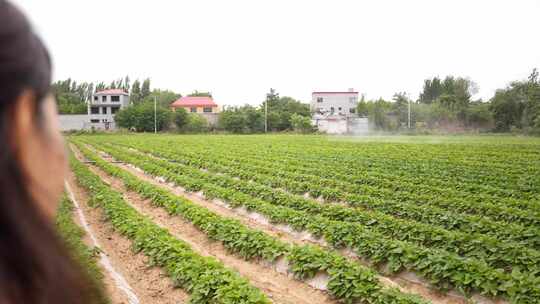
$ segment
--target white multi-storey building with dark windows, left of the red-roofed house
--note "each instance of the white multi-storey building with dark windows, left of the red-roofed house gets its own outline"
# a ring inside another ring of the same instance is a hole
[[[95,93],[88,104],[90,128],[99,130],[115,129],[114,115],[129,106],[129,94],[113,89]]]

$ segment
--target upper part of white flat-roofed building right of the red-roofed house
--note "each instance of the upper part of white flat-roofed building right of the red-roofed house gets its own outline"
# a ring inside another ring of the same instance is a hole
[[[313,92],[311,94],[311,112],[323,115],[356,116],[358,92]]]

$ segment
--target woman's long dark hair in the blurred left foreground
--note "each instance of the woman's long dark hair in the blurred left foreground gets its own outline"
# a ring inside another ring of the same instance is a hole
[[[98,298],[38,210],[11,146],[16,100],[30,90],[39,116],[50,83],[45,47],[24,15],[0,0],[0,303],[95,303]]]

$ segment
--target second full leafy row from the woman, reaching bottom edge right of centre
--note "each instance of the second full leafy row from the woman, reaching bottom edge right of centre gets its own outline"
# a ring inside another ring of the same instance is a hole
[[[313,278],[319,272],[329,275],[328,292],[344,303],[427,303],[397,289],[383,287],[372,270],[318,246],[284,243],[268,234],[250,229],[240,221],[224,218],[167,190],[142,181],[131,173],[102,160],[87,148],[78,145],[86,158],[108,174],[123,181],[127,189],[148,198],[156,206],[191,222],[209,238],[220,241],[228,250],[246,260],[275,261],[285,258],[290,271],[299,279]],[[231,302],[233,303],[233,302]],[[238,302],[234,302],[238,303]]]

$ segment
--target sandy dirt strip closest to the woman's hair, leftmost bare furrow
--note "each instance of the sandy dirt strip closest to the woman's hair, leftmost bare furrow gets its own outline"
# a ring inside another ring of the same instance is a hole
[[[189,295],[182,289],[174,288],[173,282],[161,269],[148,266],[146,256],[132,252],[131,242],[115,232],[112,226],[103,220],[101,209],[88,206],[89,196],[77,184],[71,172],[67,183],[79,202],[80,210],[99,242],[101,251],[107,255],[115,270],[122,274],[141,304],[176,304],[189,301]],[[79,220],[77,222],[81,224]],[[104,274],[112,303],[129,303],[126,294],[117,287],[114,279],[106,271]]]

